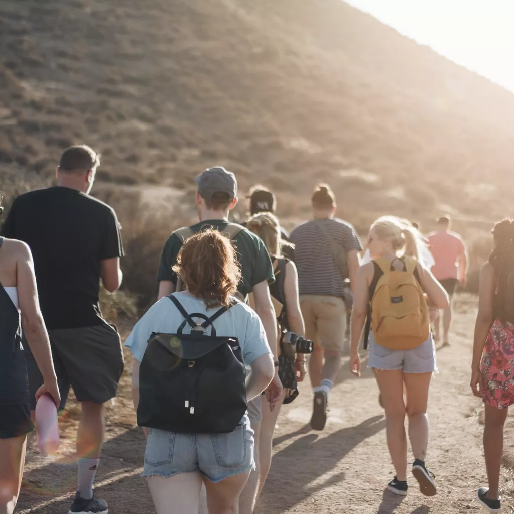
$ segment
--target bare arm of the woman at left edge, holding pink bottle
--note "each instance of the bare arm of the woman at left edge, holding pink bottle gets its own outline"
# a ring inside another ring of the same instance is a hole
[[[14,242],[13,242],[14,243]],[[34,263],[27,245],[15,242],[19,252],[16,265],[16,287],[18,302],[22,314],[22,324],[27,343],[38,368],[43,376],[43,386],[36,392],[36,399],[42,394],[49,394],[56,407],[61,403],[57,386],[56,372],[53,368],[50,341],[46,331],[38,300],[38,288],[35,282]]]

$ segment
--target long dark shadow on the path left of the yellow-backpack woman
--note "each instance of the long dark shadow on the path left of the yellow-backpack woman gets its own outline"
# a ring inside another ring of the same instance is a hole
[[[340,484],[345,480],[345,472],[331,476],[322,483],[311,485],[316,479],[332,471],[343,458],[364,440],[372,437],[386,427],[382,416],[373,416],[356,427],[343,428],[337,432],[319,437],[308,433],[295,440],[286,448],[273,455],[273,466],[269,472],[264,493],[256,509],[257,513],[279,514],[302,503],[314,493],[327,487]],[[274,444],[283,442],[293,436],[302,434],[306,427],[276,438]],[[317,462],[313,465],[312,455]],[[273,495],[269,501],[266,488],[272,484],[274,490],[286,491],[281,497]],[[343,507],[341,505],[341,507]],[[418,513],[419,514],[419,513]]]

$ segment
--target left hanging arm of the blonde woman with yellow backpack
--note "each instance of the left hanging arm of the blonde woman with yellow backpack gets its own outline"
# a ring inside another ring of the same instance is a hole
[[[350,370],[360,376],[359,344],[370,302],[369,284],[373,278],[373,263],[361,266],[357,271],[354,286],[354,304],[350,321]]]

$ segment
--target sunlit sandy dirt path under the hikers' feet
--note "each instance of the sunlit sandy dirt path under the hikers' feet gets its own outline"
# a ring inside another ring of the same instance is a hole
[[[468,387],[474,302],[461,300],[457,308],[452,345],[437,353],[439,374],[433,379],[430,396],[427,463],[437,477],[437,496],[421,496],[413,479],[409,497],[403,501],[383,492],[393,468],[377,387],[368,370],[359,380],[350,376],[345,365],[330,398],[325,431],[315,433],[306,426],[311,409],[308,387],[303,387],[300,397],[281,412],[272,468],[256,514],[482,512],[474,501],[476,487],[485,483],[478,423],[480,402],[470,395]],[[138,476],[144,449],[139,430],[130,428],[130,424],[121,429],[113,424],[110,437],[97,492],[109,502],[112,514],[152,514],[148,491]],[[71,448],[71,441],[67,448]],[[76,466],[69,459],[61,462],[30,456],[20,512],[67,511]],[[504,511],[512,512],[506,482],[510,473],[504,474]]]

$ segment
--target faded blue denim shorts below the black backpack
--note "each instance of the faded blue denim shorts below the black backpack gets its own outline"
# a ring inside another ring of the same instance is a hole
[[[173,476],[200,471],[207,480],[221,482],[229,476],[255,469],[253,430],[248,416],[228,434],[179,434],[150,429],[141,476]]]

